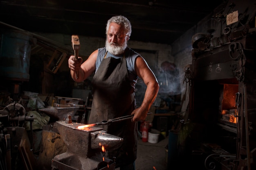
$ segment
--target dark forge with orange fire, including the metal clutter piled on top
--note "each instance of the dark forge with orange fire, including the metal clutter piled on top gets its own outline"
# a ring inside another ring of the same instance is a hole
[[[184,146],[203,170],[256,169],[255,8],[230,2],[224,13],[236,9],[246,20],[221,22],[214,34],[192,37],[190,131],[185,131],[190,138]]]

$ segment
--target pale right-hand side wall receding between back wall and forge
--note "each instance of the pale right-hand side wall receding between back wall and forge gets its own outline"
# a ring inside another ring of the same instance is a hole
[[[225,9],[226,4],[223,3],[216,9],[214,9],[209,15],[204,17],[200,22],[198,22],[191,29],[186,31],[180,38],[178,38],[173,44],[171,44],[172,51],[171,56],[173,56],[174,63],[177,68],[179,68],[179,79],[181,86],[181,110],[180,113],[183,115],[186,113],[188,104],[189,104],[189,83],[186,83],[187,71],[192,64],[192,37],[196,33],[205,33],[207,34],[210,29],[214,29],[216,25],[219,24],[218,20],[213,19],[214,15],[220,13]],[[208,33],[209,34],[209,33]]]

